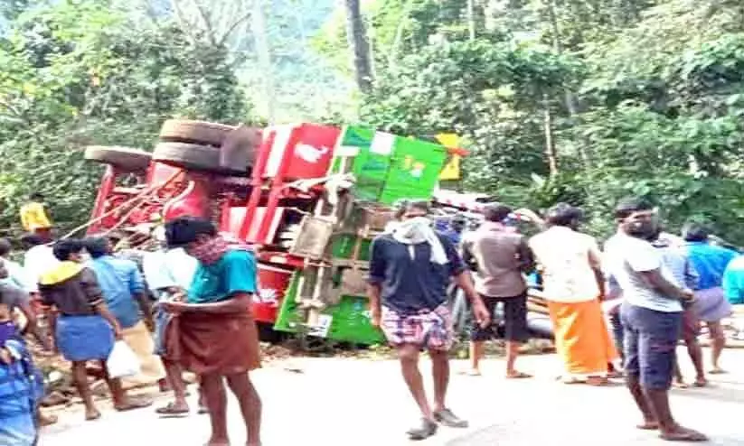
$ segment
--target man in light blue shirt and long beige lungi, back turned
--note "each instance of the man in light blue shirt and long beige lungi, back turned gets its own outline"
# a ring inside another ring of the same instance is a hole
[[[108,238],[89,238],[85,241],[85,247],[92,257],[88,265],[96,273],[108,311],[117,318],[124,341],[140,361],[141,373],[123,378],[125,386],[162,382],[165,370],[155,357],[155,344],[147,329],[153,325],[152,302],[137,264],[112,256],[113,246]],[[143,315],[146,322],[143,321]]]

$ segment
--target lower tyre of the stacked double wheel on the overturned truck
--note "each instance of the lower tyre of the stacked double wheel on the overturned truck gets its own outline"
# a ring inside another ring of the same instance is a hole
[[[202,144],[158,143],[153,152],[153,161],[186,170],[231,176],[247,176],[249,168],[247,157],[232,160],[230,166],[221,167],[220,149]]]

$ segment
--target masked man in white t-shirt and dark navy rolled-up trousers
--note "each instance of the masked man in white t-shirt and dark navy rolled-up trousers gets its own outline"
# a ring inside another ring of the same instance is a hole
[[[643,199],[621,200],[615,209],[617,234],[605,245],[607,273],[623,294],[626,384],[644,421],[668,441],[706,441],[700,432],[676,423],[669,407],[683,302],[692,291],[677,283],[662,253],[648,242],[656,230],[654,206]]]

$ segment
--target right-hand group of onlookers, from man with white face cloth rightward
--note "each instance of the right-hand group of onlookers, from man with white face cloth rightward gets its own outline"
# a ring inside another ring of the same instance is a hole
[[[695,367],[694,386],[708,384],[698,342],[703,324],[712,341],[708,373],[725,373],[721,320],[732,305],[744,303],[744,257],[737,251],[711,243],[701,224],[686,225],[682,237],[664,232],[657,209],[643,199],[617,203],[614,215],[607,216],[617,232],[604,249],[581,232],[581,209],[566,203],[549,209],[544,219],[516,211],[538,226],[532,237],[519,233],[515,212],[502,204],[486,205],[484,221],[472,232],[464,232],[459,220],[436,230],[428,209],[428,202],[404,202],[371,253],[372,324],[397,348],[422,415],[408,432],[411,439],[434,435],[438,425],[467,425],[445,400],[447,348],[456,335],[447,305],[450,280],[474,314],[469,374],[481,374],[484,342],[495,337],[496,307],[503,305],[505,377],[531,377],[515,367],[520,346],[530,337],[528,274],[540,275],[564,383],[605,386],[625,376],[643,417],[638,428],[658,431],[668,441],[707,439],[674,420],[668,391],[675,379],[687,386],[676,360],[681,340]],[[433,406],[419,372],[423,350],[432,359]]]

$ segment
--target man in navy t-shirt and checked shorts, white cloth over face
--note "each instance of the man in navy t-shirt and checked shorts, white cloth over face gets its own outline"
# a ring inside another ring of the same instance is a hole
[[[488,323],[488,311],[476,293],[470,275],[451,241],[431,228],[426,215],[429,203],[407,204],[399,225],[377,237],[370,259],[370,310],[372,325],[381,328],[398,350],[401,370],[423,415],[411,429],[411,440],[423,440],[437,432],[437,423],[466,427],[445,405],[449,381],[447,350],[454,339],[452,317],[447,309],[450,278],[473,304],[477,321]],[[429,350],[435,383],[434,407],[429,405],[419,372],[419,352]]]

